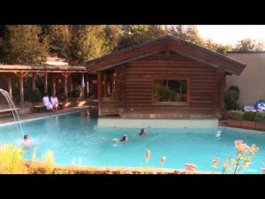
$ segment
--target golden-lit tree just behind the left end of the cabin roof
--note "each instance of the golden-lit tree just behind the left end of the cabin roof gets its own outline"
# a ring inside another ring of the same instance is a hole
[[[101,57],[106,51],[104,26],[78,25],[73,27],[69,59],[74,64],[84,64]]]

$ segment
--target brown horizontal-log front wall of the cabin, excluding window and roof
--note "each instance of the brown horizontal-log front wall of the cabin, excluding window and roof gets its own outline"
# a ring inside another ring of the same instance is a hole
[[[121,68],[125,74],[121,75]],[[140,58],[116,68],[116,91],[124,118],[210,118],[220,117],[223,106],[223,71],[178,54],[159,53]],[[160,105],[153,103],[154,78],[189,79],[189,104]],[[121,95],[124,90],[124,95]]]

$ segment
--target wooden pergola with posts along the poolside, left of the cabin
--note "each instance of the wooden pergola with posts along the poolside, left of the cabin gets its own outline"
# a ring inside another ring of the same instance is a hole
[[[15,74],[19,77],[19,96],[20,104],[24,105],[24,78],[28,73],[33,74],[32,79],[32,88],[35,88],[35,73],[44,74],[44,93],[48,92],[48,73],[52,73],[52,93],[56,94],[56,81],[55,73],[61,73],[64,77],[64,96],[68,96],[68,77],[72,73],[81,73],[82,78],[85,80],[85,90],[88,92],[88,76],[87,76],[87,67],[86,66],[74,66],[74,65],[0,65],[0,74],[5,73],[4,78],[7,80],[7,91],[12,96],[11,89],[11,77],[12,74]],[[85,77],[85,75],[87,77]],[[83,91],[84,92],[84,91]],[[84,93],[83,93],[84,95]]]

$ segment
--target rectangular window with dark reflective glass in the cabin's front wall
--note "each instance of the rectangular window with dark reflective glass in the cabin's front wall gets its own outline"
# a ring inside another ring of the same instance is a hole
[[[187,80],[155,80],[155,103],[186,103]]]

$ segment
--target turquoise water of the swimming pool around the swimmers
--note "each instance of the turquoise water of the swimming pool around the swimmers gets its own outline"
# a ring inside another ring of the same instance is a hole
[[[261,167],[265,167],[265,134],[256,132],[222,129],[216,136],[218,129],[213,128],[148,128],[148,134],[140,137],[139,128],[100,128],[97,120],[80,117],[78,112],[26,121],[22,127],[33,142],[26,149],[26,158],[30,159],[35,149],[41,159],[50,149],[57,165],[71,165],[74,159],[75,165],[146,166],[145,151],[149,148],[149,166],[160,167],[160,158],[166,156],[165,168],[184,169],[184,164],[193,163],[198,170],[211,171],[212,157],[220,157],[221,162],[234,157],[234,141],[242,140],[260,148],[245,173],[261,173]],[[128,142],[108,141],[124,134]],[[14,125],[0,126],[0,144],[6,142],[21,142]]]

